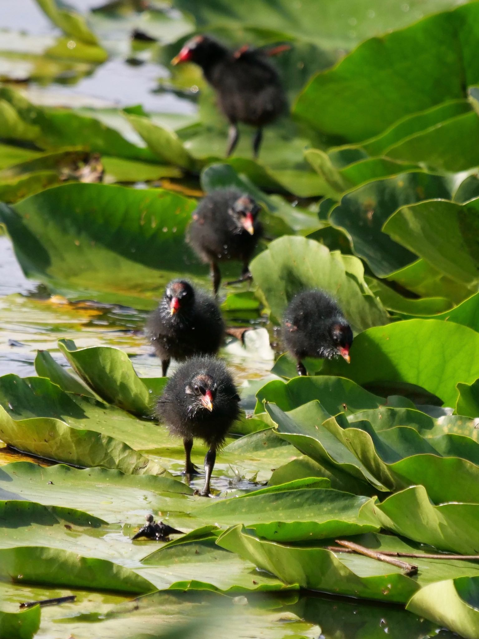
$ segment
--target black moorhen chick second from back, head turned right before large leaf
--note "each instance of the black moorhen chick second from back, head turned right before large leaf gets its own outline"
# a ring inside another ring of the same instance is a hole
[[[218,261],[238,259],[243,263],[241,277],[229,284],[251,279],[249,261],[262,236],[259,210],[254,199],[238,189],[211,191],[194,210],[188,242],[199,258],[209,263],[215,295],[221,281]]]

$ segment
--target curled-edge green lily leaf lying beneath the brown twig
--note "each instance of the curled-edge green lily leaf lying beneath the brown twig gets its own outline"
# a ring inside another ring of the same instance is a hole
[[[353,537],[376,551],[423,553],[427,546],[406,543],[392,535],[367,534]],[[217,539],[218,546],[234,551],[258,567],[277,575],[285,583],[347,596],[406,603],[423,585],[455,576],[479,576],[474,562],[414,558],[418,576],[407,577],[400,568],[364,557],[333,553],[324,548],[282,546],[248,534],[241,525],[229,528]],[[414,550],[413,550],[414,549]]]

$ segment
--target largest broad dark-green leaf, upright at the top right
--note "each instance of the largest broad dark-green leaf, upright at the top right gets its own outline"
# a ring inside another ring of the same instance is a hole
[[[465,97],[466,87],[479,81],[478,12],[471,3],[367,40],[316,75],[294,112],[321,132],[360,141],[407,114]]]

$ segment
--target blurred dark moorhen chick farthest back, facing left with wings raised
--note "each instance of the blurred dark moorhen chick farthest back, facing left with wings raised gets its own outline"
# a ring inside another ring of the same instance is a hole
[[[258,156],[262,127],[270,124],[286,109],[287,101],[280,77],[268,56],[289,49],[280,45],[273,49],[251,49],[248,46],[231,51],[207,36],[195,36],[172,59],[172,64],[193,62],[215,89],[218,105],[230,128],[226,155],[238,144],[238,122],[256,127],[253,139],[254,157]]]

